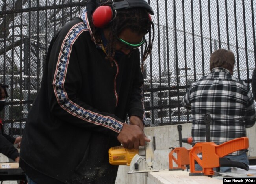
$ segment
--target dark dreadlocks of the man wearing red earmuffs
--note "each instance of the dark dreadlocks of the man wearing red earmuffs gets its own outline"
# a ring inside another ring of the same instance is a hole
[[[120,0],[114,0],[115,2]],[[108,0],[106,3],[102,5],[111,5],[112,1]],[[96,40],[100,40],[100,28],[96,28],[93,24],[91,24],[93,34]],[[150,20],[148,11],[145,8],[134,7],[128,9],[117,9],[116,17],[113,19],[105,28],[110,29],[110,34],[108,37],[107,44],[107,56],[106,59],[111,63],[114,60],[115,56],[115,46],[117,43],[116,35],[119,35],[124,29],[131,29],[131,31],[137,32],[138,34],[146,34],[151,33],[151,28],[153,31],[153,36],[149,36],[149,42],[145,41],[145,48],[143,52],[142,62],[141,62],[141,70],[144,70],[144,61],[147,56],[151,53],[152,44],[154,40],[154,24]]]

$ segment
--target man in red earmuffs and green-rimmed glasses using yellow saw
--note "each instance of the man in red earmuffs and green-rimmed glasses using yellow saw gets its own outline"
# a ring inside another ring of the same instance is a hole
[[[91,0],[56,33],[22,136],[20,166],[29,183],[115,183],[109,148],[150,141],[141,69],[154,39],[150,14],[144,0]]]

